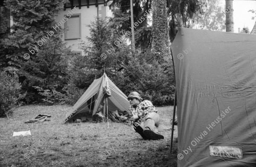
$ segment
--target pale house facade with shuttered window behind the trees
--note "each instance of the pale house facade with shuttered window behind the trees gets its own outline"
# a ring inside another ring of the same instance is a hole
[[[96,17],[111,17],[112,11],[108,6],[108,0],[70,0],[64,4],[64,9],[59,11],[55,21],[60,22],[65,29],[62,40],[71,46],[71,50],[77,55],[85,55],[79,49],[81,40],[87,43],[86,37],[90,36],[88,25],[96,20]]]

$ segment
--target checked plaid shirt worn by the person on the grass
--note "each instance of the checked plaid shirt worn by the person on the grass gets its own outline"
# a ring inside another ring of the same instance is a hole
[[[139,117],[142,117],[144,113],[157,112],[157,109],[153,106],[151,101],[145,100],[138,104],[136,107],[130,106],[128,111],[130,117],[132,117],[133,115],[139,115]]]

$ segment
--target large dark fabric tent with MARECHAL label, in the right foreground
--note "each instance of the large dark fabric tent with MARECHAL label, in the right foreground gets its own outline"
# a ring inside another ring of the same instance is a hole
[[[256,35],[180,28],[178,167],[256,167]]]

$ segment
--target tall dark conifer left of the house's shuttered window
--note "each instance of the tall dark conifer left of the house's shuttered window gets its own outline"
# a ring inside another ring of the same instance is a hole
[[[27,91],[26,102],[41,99],[35,87],[60,91],[67,75],[70,54],[61,40],[63,30],[55,16],[67,0],[6,0],[14,25],[0,43],[0,70],[16,71]],[[48,39],[49,38],[49,39]],[[40,42],[41,41],[41,42]],[[29,54],[24,56],[25,54]]]

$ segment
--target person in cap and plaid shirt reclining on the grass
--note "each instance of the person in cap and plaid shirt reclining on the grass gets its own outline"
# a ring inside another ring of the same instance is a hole
[[[131,104],[128,109],[130,120],[134,123],[135,131],[145,140],[163,139],[163,135],[160,135],[157,130],[160,116],[151,101],[143,101],[138,92],[131,92],[128,95],[128,101]]]

